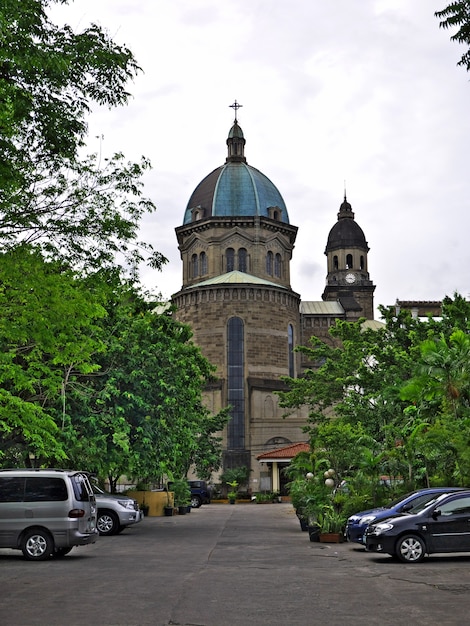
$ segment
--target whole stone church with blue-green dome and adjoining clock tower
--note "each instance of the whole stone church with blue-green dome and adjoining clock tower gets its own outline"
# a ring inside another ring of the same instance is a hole
[[[249,467],[252,492],[283,491],[282,464],[258,459],[305,441],[306,412],[283,417],[279,407],[281,377],[302,375],[308,364],[295,346],[312,335],[329,341],[336,319],[373,319],[369,248],[345,197],[326,244],[322,300],[302,302],[290,285],[298,229],[277,187],[248,165],[236,115],[226,143],[225,163],[197,185],[176,228],[183,284],[172,303],[217,367],[207,406],[231,407],[223,469]]]

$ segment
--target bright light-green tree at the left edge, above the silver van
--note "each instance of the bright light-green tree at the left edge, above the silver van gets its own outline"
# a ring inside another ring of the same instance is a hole
[[[66,458],[61,424],[74,377],[97,369],[105,310],[77,276],[27,246],[0,257],[0,457]]]

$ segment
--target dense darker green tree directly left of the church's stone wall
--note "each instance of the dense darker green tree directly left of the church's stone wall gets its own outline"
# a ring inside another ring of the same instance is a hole
[[[93,282],[97,280],[94,277]],[[171,311],[157,312],[118,274],[105,272],[108,316],[100,370],[82,377],[69,397],[66,437],[77,465],[113,484],[121,475],[157,481],[217,469],[217,433],[227,412],[210,415],[202,391],[213,367]]]

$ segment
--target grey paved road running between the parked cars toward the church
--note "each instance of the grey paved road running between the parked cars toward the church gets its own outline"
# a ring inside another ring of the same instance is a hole
[[[312,543],[290,504],[211,504],[63,560],[0,549],[0,624],[461,626],[469,565],[469,554],[405,565]]]

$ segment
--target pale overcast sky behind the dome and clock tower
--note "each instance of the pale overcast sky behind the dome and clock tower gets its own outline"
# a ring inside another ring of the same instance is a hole
[[[144,284],[181,288],[174,229],[199,182],[222,165],[238,120],[245,156],[299,227],[292,288],[321,300],[328,233],[346,186],[369,243],[375,305],[470,295],[470,74],[434,17],[450,0],[75,0],[135,54],[126,107],[90,117],[89,151],[150,158],[158,211],[145,239],[169,259]]]

